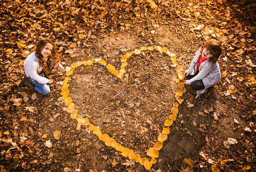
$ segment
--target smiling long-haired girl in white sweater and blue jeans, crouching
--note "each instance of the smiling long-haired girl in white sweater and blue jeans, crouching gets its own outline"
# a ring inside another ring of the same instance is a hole
[[[51,92],[49,84],[53,83],[53,79],[47,79],[44,72],[50,73],[48,67],[52,64],[56,64],[55,67],[64,71],[65,68],[59,62],[54,42],[47,38],[39,40],[35,52],[24,61],[24,71],[27,77],[20,82],[19,87],[28,86],[43,95],[49,94]]]

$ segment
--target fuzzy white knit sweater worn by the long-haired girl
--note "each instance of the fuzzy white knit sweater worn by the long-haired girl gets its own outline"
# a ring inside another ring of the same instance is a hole
[[[43,68],[40,64],[40,60],[35,56],[35,52],[28,55],[28,57],[24,61],[24,71],[26,73],[26,76],[31,77],[39,83],[46,84],[48,83],[48,79],[39,75],[42,69]]]

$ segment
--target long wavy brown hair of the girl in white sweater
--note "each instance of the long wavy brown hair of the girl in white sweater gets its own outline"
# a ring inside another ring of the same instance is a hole
[[[53,49],[52,52],[46,62],[46,60],[44,59],[44,56],[41,54],[42,49],[44,49],[44,47],[46,46],[47,43],[50,43],[51,45],[53,45]],[[38,44],[35,48],[35,56],[40,60],[40,63],[42,65],[42,68],[44,68],[46,73],[50,73],[48,67],[55,65],[57,63],[60,63],[60,57],[58,56],[58,54],[56,53],[56,48],[55,48],[55,44],[52,40],[48,39],[48,38],[43,38],[40,39],[38,41]]]

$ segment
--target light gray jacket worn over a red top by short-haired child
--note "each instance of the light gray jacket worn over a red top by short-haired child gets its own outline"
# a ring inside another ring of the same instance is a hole
[[[195,74],[195,72],[198,70],[198,59],[201,55],[201,50],[202,47],[199,48],[189,66],[189,69],[186,70],[191,75]],[[209,62],[209,60],[205,60],[204,62],[202,62],[199,67],[199,73],[195,77],[187,80],[187,83],[191,84],[193,81],[200,79],[202,79],[205,89],[218,83],[221,80],[221,70],[218,62],[212,63]]]

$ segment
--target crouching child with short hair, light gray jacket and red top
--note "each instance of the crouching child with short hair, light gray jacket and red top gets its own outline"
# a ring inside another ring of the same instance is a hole
[[[210,40],[199,48],[189,69],[184,73],[192,90],[196,90],[195,100],[201,100],[207,89],[221,80],[221,71],[217,62],[222,54],[222,44],[217,40]]]

